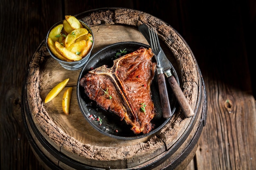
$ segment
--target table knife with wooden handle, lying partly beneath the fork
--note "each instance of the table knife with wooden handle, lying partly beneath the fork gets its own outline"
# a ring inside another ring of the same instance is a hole
[[[150,37],[148,33],[148,26],[146,24],[142,24],[138,26],[139,31],[142,35],[146,38],[148,43],[150,44]],[[179,84],[177,83],[175,77],[171,73],[171,64],[164,52],[161,53],[162,55],[159,57],[159,62],[161,66],[164,68],[164,75],[167,77],[167,80],[173,90],[173,93],[180,104],[180,107],[183,110],[185,117],[192,117],[195,113],[192,110],[189,102],[187,101],[183,91],[181,90]]]

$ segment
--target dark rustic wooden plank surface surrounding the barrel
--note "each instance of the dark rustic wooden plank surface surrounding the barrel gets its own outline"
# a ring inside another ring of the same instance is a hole
[[[221,5],[220,5],[221,4]],[[154,15],[191,47],[207,90],[207,125],[187,170],[256,167],[255,2],[3,1],[0,4],[1,169],[43,169],[21,116],[21,91],[31,57],[50,26],[66,14],[126,7]],[[249,43],[250,42],[250,43]]]

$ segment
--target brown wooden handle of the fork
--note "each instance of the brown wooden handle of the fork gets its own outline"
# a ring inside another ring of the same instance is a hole
[[[165,76],[163,73],[157,74],[157,82],[158,82],[158,88],[160,93],[163,117],[167,119],[172,116],[172,112],[171,112],[171,106],[170,106],[170,101],[168,97],[167,86],[165,82]]]

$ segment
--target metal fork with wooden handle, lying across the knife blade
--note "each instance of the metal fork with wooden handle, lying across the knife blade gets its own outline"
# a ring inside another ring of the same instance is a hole
[[[162,105],[163,117],[169,118],[172,116],[171,106],[165,82],[164,68],[161,67],[161,64],[159,62],[159,55],[160,53],[162,53],[162,48],[160,47],[156,29],[153,30],[153,28],[150,28],[148,29],[148,32],[150,37],[150,46],[153,53],[155,54],[155,59],[157,60],[157,82]]]

